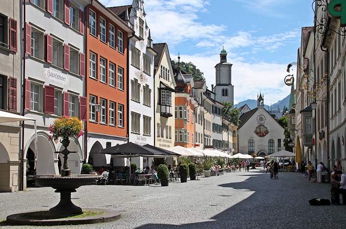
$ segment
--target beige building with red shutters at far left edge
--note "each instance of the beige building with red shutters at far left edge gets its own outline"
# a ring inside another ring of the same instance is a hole
[[[20,112],[20,17],[19,2],[2,1],[0,9],[0,109]],[[20,124],[0,124],[0,192],[19,190]]]

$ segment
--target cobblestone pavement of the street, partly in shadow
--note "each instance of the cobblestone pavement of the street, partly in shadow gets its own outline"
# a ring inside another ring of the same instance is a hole
[[[118,209],[122,217],[109,223],[54,228],[346,227],[346,206],[308,203],[311,198],[329,199],[330,185],[308,183],[300,173],[279,173],[278,180],[271,180],[263,171],[250,170],[169,187],[84,186],[72,198],[80,207]],[[51,188],[0,193],[0,221],[14,213],[48,210],[57,202],[59,195]]]

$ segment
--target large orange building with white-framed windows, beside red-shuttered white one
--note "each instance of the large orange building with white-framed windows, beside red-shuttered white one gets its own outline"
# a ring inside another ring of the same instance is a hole
[[[128,141],[128,37],[133,30],[98,1],[86,7],[85,55],[88,162],[99,167],[110,157],[95,154]],[[92,153],[92,154],[90,154]]]

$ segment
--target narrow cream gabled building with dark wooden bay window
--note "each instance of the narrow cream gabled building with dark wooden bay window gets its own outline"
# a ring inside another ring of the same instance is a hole
[[[168,45],[154,44],[155,56],[155,146],[168,149],[175,143],[175,88]]]

